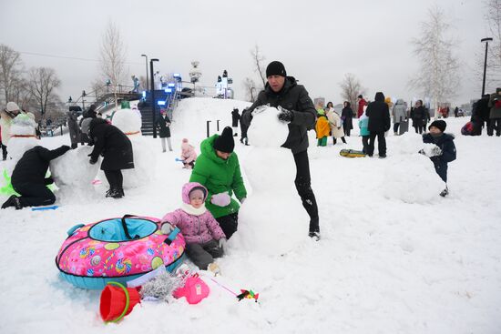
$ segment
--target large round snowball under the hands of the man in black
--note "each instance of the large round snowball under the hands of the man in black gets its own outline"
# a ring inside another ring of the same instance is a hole
[[[285,142],[289,127],[278,119],[279,113],[275,107],[252,112],[252,123],[247,135],[253,147],[281,147]]]

